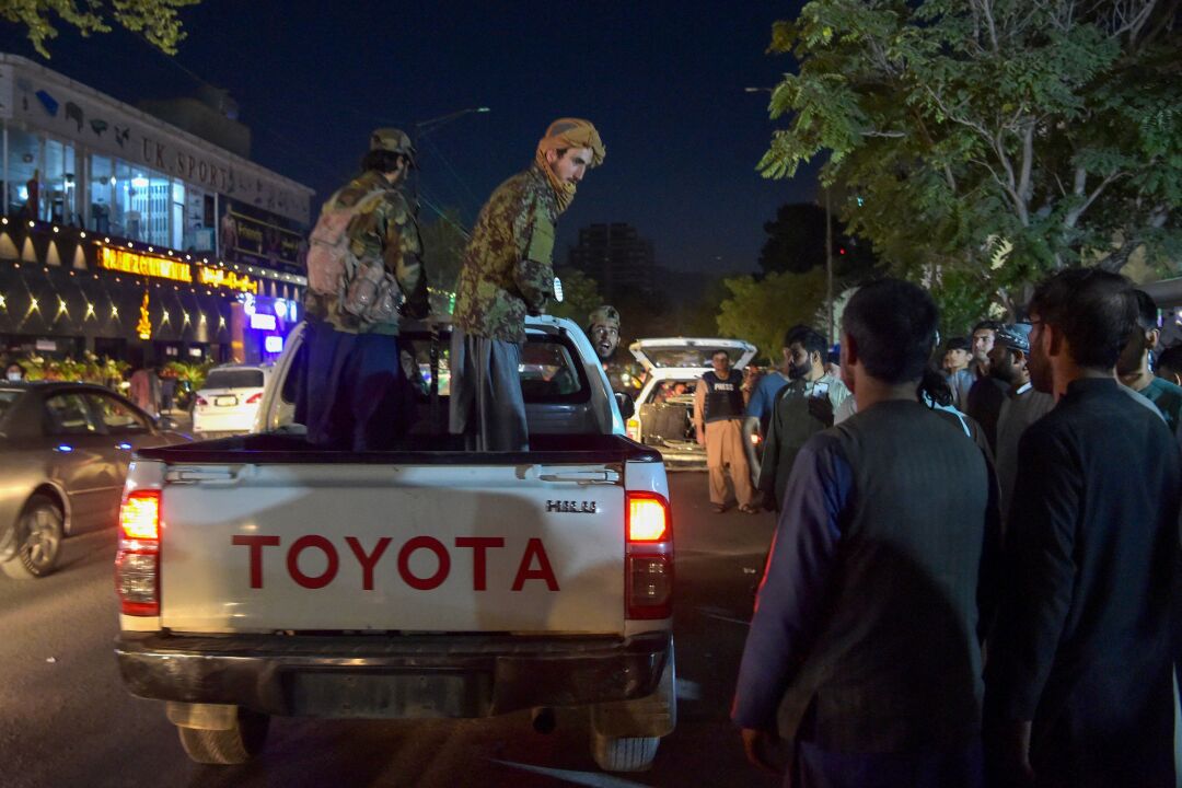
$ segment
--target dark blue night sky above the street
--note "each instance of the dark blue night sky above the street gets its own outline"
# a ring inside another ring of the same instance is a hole
[[[764,222],[816,189],[814,170],[791,182],[755,171],[774,125],[768,95],[743,91],[792,66],[765,51],[772,22],[801,4],[500,5],[204,0],[184,9],[175,58],[122,30],[83,39],[61,25],[46,63],[4,21],[0,51],[131,104],[199,80],[228,89],[252,158],[316,189],[316,204],[355,174],[372,128],[488,106],[420,145],[423,196],[468,227],[552,119],[585,117],[608,158],[563,215],[556,262],[579,227],[629,222],[668,268],[754,271]]]

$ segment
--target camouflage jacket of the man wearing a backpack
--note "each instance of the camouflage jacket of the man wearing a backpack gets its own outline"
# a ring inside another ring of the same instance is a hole
[[[325,204],[353,206],[377,190],[384,190],[384,194],[349,224],[350,248],[358,260],[381,258],[407,298],[407,311],[426,314],[427,273],[420,260],[422,242],[418,224],[398,187],[388,185],[379,172],[370,171],[351,181]],[[342,310],[336,295],[317,295],[309,291],[304,307],[309,317],[320,318],[337,331],[353,334],[398,333],[397,315],[390,323],[364,323]]]

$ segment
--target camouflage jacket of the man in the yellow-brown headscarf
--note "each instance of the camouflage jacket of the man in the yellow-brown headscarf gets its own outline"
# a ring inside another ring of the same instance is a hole
[[[469,334],[525,341],[525,315],[553,297],[558,203],[545,172],[531,167],[496,187],[465,254],[453,321]]]

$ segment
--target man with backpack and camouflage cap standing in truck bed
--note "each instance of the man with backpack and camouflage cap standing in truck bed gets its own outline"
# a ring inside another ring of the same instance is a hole
[[[414,164],[410,137],[374,131],[362,174],[329,198],[312,230],[296,421],[317,445],[390,449],[414,423],[398,353],[400,312],[428,311],[418,227],[402,193]]]

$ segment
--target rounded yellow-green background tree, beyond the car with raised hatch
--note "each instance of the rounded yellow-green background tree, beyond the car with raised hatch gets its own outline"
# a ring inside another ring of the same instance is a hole
[[[780,357],[785,331],[798,323],[812,325],[825,302],[824,268],[768,274],[762,280],[734,276],[723,284],[730,297],[722,301],[719,331],[754,343],[767,359]]]

